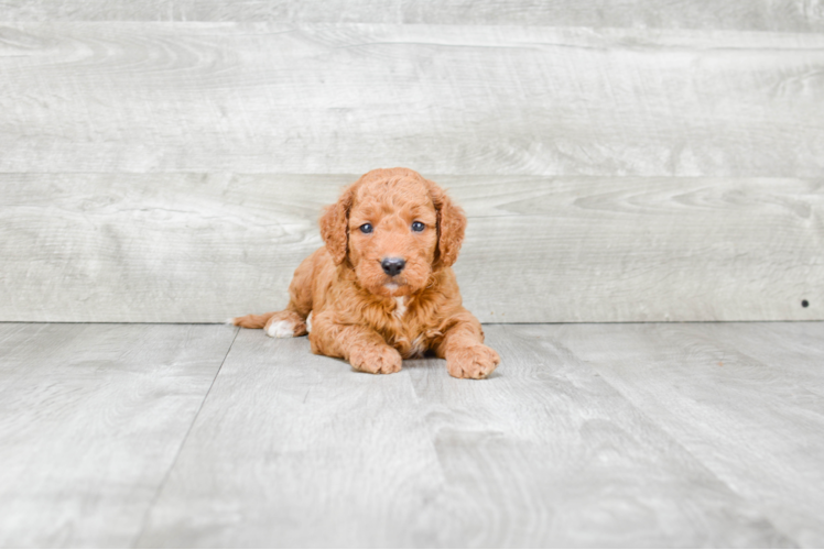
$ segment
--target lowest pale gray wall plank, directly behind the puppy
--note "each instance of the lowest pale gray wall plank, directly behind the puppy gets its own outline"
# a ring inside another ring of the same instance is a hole
[[[468,213],[455,270],[485,322],[824,317],[821,180],[429,176]],[[0,175],[0,320],[282,308],[355,178]]]

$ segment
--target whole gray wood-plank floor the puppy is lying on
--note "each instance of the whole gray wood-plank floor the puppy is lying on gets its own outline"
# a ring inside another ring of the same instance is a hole
[[[0,547],[824,546],[824,322],[486,331],[474,382],[0,323]]]

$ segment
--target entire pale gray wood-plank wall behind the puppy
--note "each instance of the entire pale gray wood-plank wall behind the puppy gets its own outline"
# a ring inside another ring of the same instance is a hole
[[[484,321],[824,319],[822,31],[817,0],[0,0],[0,321],[280,308],[390,166],[467,210]]]

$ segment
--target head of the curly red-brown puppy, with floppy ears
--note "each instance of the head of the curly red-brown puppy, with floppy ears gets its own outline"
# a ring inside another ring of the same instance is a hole
[[[377,169],[347,187],[321,218],[336,264],[380,296],[408,296],[455,263],[466,217],[435,183],[408,168]]]

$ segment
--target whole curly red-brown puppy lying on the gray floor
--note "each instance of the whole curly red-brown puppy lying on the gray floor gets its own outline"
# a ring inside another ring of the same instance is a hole
[[[275,338],[310,332],[313,353],[362,372],[395,373],[402,358],[433,351],[451,375],[484,378],[500,359],[452,271],[465,228],[463,210],[416,172],[369,172],[326,208],[326,246],[295,271],[286,309],[229,322]]]

